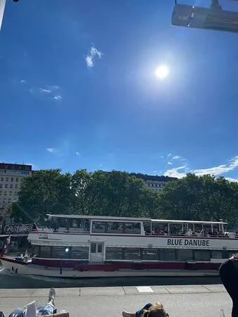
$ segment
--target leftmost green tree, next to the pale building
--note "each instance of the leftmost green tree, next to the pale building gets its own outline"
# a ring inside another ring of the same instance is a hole
[[[38,170],[24,179],[18,201],[11,205],[11,216],[34,222],[44,220],[47,213],[68,213],[70,198],[69,173]]]

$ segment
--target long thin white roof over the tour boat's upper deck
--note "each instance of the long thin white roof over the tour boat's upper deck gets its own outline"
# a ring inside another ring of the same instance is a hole
[[[70,218],[70,219],[88,219],[88,220],[118,220],[118,221],[144,221],[152,223],[194,223],[200,225],[227,225],[223,221],[197,221],[197,220],[168,220],[168,219],[151,219],[151,218],[129,218],[129,217],[110,217],[110,216],[84,216],[84,215],[50,215],[52,218]]]

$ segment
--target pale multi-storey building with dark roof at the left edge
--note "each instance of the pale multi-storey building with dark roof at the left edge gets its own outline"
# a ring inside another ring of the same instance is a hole
[[[4,215],[11,202],[18,200],[23,178],[31,174],[31,165],[0,163],[0,216]]]

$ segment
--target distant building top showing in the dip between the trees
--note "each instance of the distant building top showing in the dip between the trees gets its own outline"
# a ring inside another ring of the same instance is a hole
[[[163,188],[167,182],[177,180],[177,178],[170,178],[168,176],[146,175],[140,173],[130,173],[130,175],[135,176],[136,178],[141,178],[144,180],[144,185],[146,187],[149,187],[151,190],[156,192],[163,192]]]

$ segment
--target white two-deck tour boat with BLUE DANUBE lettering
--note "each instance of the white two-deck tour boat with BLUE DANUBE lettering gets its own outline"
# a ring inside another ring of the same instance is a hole
[[[47,215],[28,235],[32,255],[1,253],[1,273],[57,278],[218,275],[238,252],[225,222]]]

